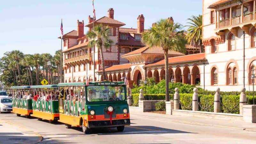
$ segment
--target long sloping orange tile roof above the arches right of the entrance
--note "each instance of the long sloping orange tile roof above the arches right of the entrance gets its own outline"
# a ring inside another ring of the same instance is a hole
[[[205,54],[204,53],[190,54],[190,55],[172,57],[172,58],[169,58],[168,60],[169,60],[169,64],[205,60]],[[156,66],[156,65],[164,65],[164,60],[160,60],[148,65],[145,65],[144,67],[150,67],[150,66]]]

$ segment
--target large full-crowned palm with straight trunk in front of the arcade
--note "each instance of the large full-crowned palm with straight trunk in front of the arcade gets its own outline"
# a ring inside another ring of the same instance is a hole
[[[164,51],[165,62],[165,100],[170,101],[169,97],[169,67],[168,67],[168,52],[169,50],[184,52],[186,50],[186,39],[182,25],[173,23],[168,19],[161,19],[157,21],[152,28],[142,33],[142,44],[150,47],[161,47]]]

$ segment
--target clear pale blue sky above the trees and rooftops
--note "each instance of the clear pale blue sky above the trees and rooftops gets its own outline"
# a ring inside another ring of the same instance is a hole
[[[94,6],[96,18],[107,16],[108,8],[114,8],[114,19],[124,22],[124,28],[136,28],[139,14],[145,17],[145,29],[160,18],[172,16],[185,25],[191,15],[202,14],[202,0],[95,0]],[[2,1],[0,57],[12,50],[54,54],[60,49],[60,20],[67,33],[76,29],[77,20],[87,23],[88,15],[92,16],[92,0]]]

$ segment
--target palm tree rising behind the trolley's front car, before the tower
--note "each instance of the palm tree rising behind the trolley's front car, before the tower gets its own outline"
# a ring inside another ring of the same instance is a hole
[[[100,58],[101,58],[101,68],[102,68],[102,75],[103,79],[106,80],[106,72],[105,72],[105,64],[104,64],[104,57],[102,51],[102,45],[105,49],[111,47],[113,41],[108,39],[109,27],[103,26],[101,24],[94,27],[93,30],[87,32],[87,36],[89,38],[89,47],[96,46],[98,51],[100,51]]]

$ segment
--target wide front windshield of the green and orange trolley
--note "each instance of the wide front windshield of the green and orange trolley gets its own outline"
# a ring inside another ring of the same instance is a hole
[[[97,85],[87,87],[88,101],[122,101],[125,100],[124,86]]]

